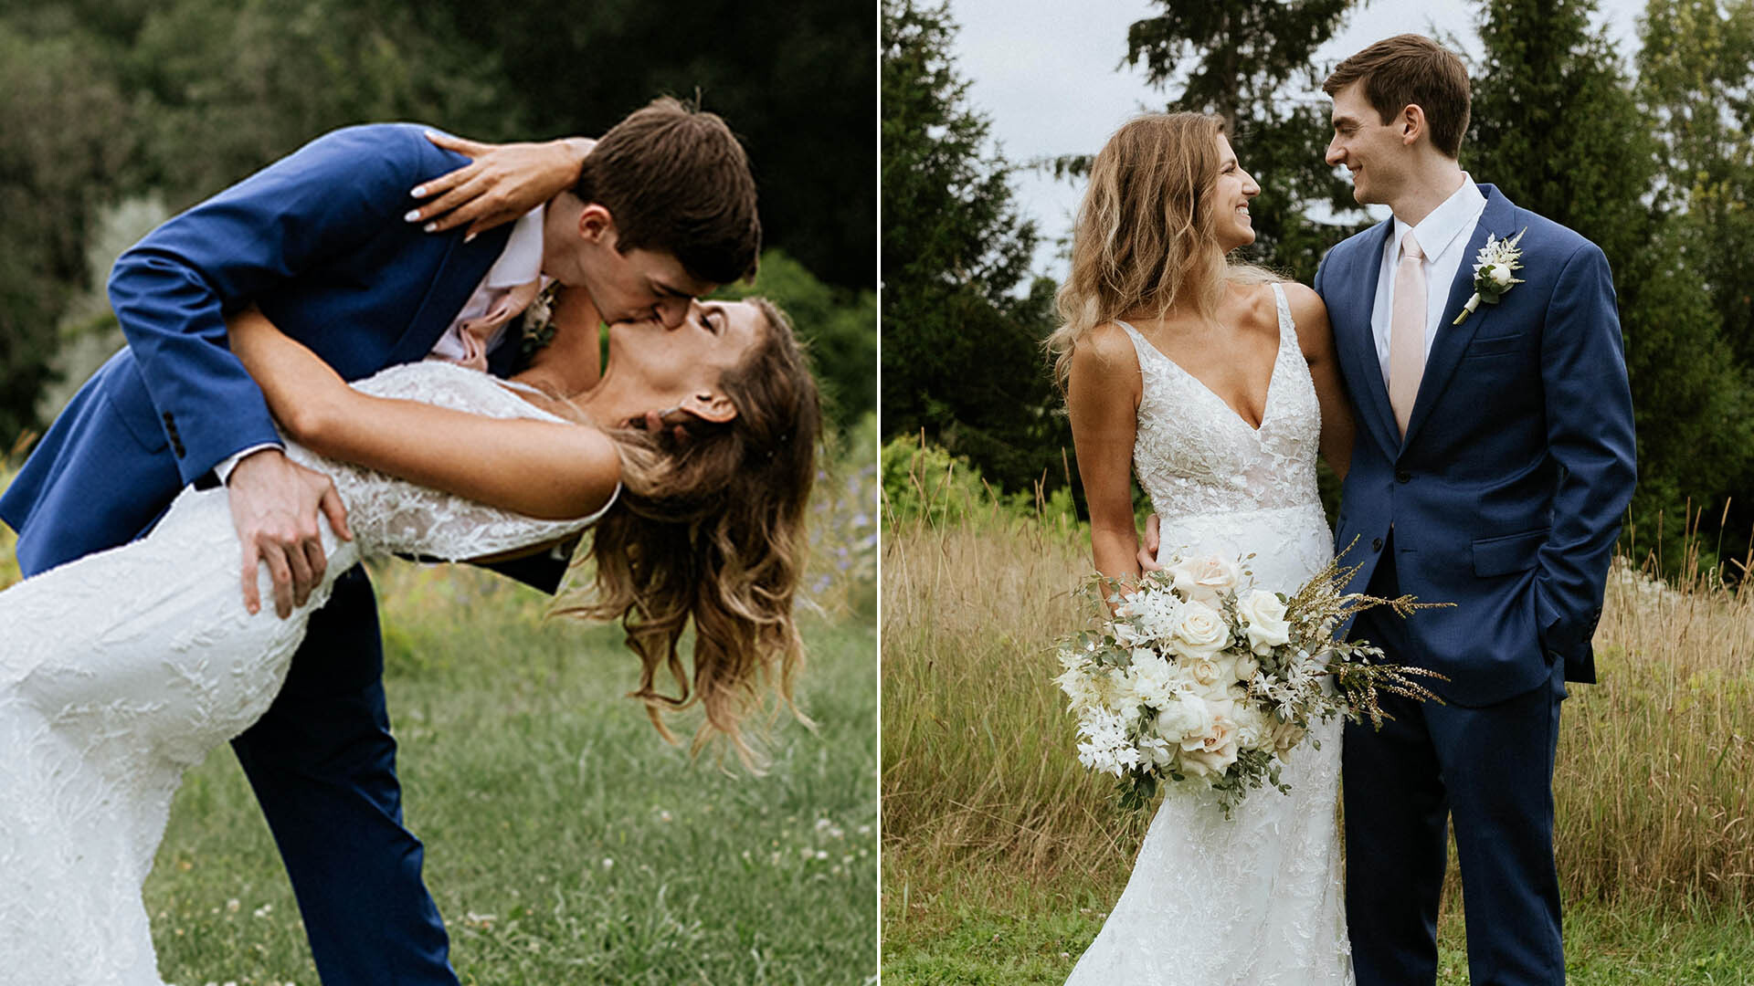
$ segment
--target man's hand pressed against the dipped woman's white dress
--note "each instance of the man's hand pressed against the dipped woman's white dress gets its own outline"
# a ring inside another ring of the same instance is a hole
[[[281,619],[303,605],[328,568],[323,553],[321,518],[342,539],[347,509],[335,482],[286,458],[281,449],[261,449],[244,456],[226,479],[232,523],[244,549],[244,605],[261,611],[256,584],[258,563],[268,563],[274,577],[274,611]]]

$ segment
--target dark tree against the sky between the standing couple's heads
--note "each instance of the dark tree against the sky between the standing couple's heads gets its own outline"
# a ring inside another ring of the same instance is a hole
[[[1144,65],[1152,86],[1173,93],[1170,111],[1214,112],[1230,121],[1231,144],[1261,182],[1249,205],[1252,254],[1305,284],[1321,254],[1356,225],[1310,219],[1312,207],[1356,216],[1352,186],[1323,161],[1328,104],[1316,68],[1321,47],[1354,0],[1247,0],[1180,4],[1126,32],[1128,65]]]

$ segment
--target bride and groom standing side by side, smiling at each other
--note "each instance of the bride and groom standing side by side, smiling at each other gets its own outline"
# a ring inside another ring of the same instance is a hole
[[[1091,167],[1051,349],[1102,575],[1252,554],[1258,588],[1294,593],[1356,546],[1349,591],[1452,604],[1338,628],[1442,674],[1442,704],[1386,697],[1380,732],[1312,723],[1289,795],[1256,790],[1233,821],[1173,784],[1068,986],[1435,982],[1451,819],[1470,981],[1565,981],[1559,704],[1594,681],[1635,484],[1614,281],[1594,244],[1461,170],[1452,53],[1393,37],[1323,89],[1328,165],[1391,219],[1335,246],[1314,288],[1282,282],[1230,258],[1261,188],[1224,121],[1133,119]],[[1344,479],[1335,532],[1317,453]]]

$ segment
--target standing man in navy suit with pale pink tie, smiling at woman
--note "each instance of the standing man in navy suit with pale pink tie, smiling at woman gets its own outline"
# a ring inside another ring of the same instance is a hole
[[[1354,637],[1447,675],[1445,704],[1384,702],[1345,730],[1347,925],[1359,986],[1437,979],[1454,819],[1475,984],[1565,981],[1552,763],[1633,495],[1633,409],[1614,281],[1584,237],[1458,165],[1468,74],[1430,39],[1347,58],[1328,163],[1393,219],[1316,274],[1358,439],[1335,542],[1352,591],[1454,604]],[[1512,279],[1477,275],[1514,242]],[[1480,300],[1473,300],[1480,295]],[[1496,304],[1493,304],[1496,298]],[[1472,309],[1472,311],[1470,311]]]

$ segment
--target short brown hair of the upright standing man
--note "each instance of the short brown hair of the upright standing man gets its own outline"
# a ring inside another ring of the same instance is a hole
[[[1321,91],[1331,96],[1358,81],[1365,82],[1365,98],[1380,123],[1415,104],[1431,128],[1431,146],[1451,158],[1461,154],[1461,135],[1468,130],[1468,70],[1449,49],[1424,35],[1382,39],[1335,67]]]

